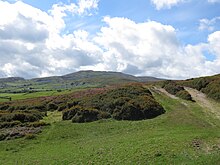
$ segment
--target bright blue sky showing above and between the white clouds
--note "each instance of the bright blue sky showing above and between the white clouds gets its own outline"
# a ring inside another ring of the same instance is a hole
[[[56,3],[77,3],[76,0],[23,0],[23,2],[37,7],[43,11],[51,9]],[[178,36],[185,44],[196,44],[205,42],[209,34],[208,31],[200,31],[199,20],[206,18],[212,19],[219,16],[220,3],[208,3],[207,0],[190,0],[176,5],[171,9],[157,10],[150,0],[100,0],[99,9],[92,17],[72,17],[69,19],[67,29],[75,30],[71,27],[73,22],[84,23],[80,28],[89,30],[89,25],[94,25],[98,30],[102,26],[103,16],[126,17],[136,23],[146,20],[158,21],[163,24],[172,25],[178,29]],[[220,20],[214,25],[215,30],[220,30]],[[96,31],[93,31],[96,32]],[[190,37],[196,36],[196,37]]]

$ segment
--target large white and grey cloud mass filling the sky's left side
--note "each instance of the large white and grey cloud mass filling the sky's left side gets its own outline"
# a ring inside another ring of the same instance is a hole
[[[83,11],[82,7],[55,4],[46,13],[21,1],[0,1],[0,75],[60,75],[98,63],[101,49],[90,41],[87,32],[62,34],[67,14],[87,15],[97,8],[95,2],[86,4]]]

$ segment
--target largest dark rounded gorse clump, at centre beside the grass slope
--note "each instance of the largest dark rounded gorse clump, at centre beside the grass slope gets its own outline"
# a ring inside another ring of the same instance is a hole
[[[63,120],[72,119],[79,123],[110,117],[116,120],[141,120],[165,113],[151,92],[140,85],[120,87],[76,102],[77,105],[71,104],[71,108],[63,111]]]

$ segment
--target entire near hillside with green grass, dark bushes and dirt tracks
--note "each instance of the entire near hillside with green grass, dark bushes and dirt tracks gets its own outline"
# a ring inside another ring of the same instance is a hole
[[[87,74],[80,76],[85,80]],[[217,165],[218,80],[219,75],[160,83],[171,94],[137,83],[18,93],[17,100],[0,103],[0,164]],[[185,100],[188,94],[195,102]],[[145,116],[158,110],[153,119]]]

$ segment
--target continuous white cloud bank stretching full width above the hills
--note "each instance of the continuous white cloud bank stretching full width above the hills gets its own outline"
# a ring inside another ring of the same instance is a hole
[[[65,17],[88,16],[97,3],[56,4],[43,12],[21,1],[0,1],[0,76],[31,78],[80,69],[178,79],[219,73],[219,31],[207,42],[182,45],[171,25],[104,17],[97,34],[80,29],[63,33]]]

